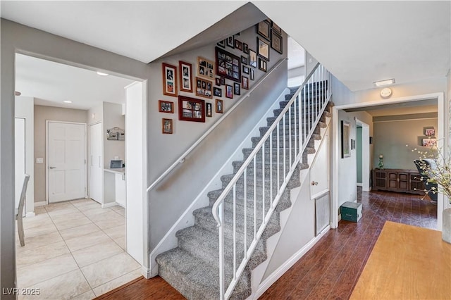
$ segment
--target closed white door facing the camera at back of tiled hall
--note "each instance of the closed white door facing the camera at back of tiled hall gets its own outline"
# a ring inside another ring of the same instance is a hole
[[[47,122],[49,203],[85,198],[86,124]]]

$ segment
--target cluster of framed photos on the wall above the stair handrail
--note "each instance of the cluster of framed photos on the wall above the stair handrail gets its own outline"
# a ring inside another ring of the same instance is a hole
[[[177,134],[178,124],[211,126],[286,57],[286,44],[285,32],[267,19],[217,43],[161,60],[160,92],[149,110],[158,111],[162,134]]]

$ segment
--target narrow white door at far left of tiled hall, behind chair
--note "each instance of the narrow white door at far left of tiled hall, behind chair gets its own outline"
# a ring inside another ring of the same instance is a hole
[[[25,119],[15,120],[15,174],[16,174],[16,209],[19,207],[20,193],[22,192],[23,180],[25,178]],[[26,204],[25,204],[26,205]],[[23,210],[25,215],[25,209]]]

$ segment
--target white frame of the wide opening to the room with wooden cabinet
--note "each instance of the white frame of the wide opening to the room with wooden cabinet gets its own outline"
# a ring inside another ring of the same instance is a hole
[[[362,108],[362,107],[370,107],[370,106],[380,106],[384,104],[396,104],[396,103],[405,103],[405,102],[414,102],[428,99],[437,99],[437,107],[438,107],[438,137],[437,142],[438,146],[442,147],[443,153],[447,154],[448,150],[448,139],[447,139],[447,120],[445,119],[445,95],[443,92],[431,93],[431,94],[422,94],[422,95],[414,95],[414,96],[404,96],[400,98],[393,99],[380,99],[376,101],[368,101],[368,102],[359,102],[354,104],[344,104],[333,106],[332,113],[332,128],[333,128],[333,158],[332,158],[332,227],[338,227],[338,163],[340,161],[340,130],[339,128],[339,118],[338,111],[348,108]],[[447,109],[446,109],[447,111]],[[446,133],[446,135],[445,135]],[[356,182],[357,183],[357,182]],[[443,216],[442,212],[444,209],[444,196],[443,194],[438,193],[438,201],[437,201],[437,230],[442,230],[443,224]]]

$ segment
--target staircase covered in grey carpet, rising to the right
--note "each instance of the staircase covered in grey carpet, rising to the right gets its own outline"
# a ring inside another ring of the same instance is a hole
[[[285,96],[285,101],[280,101],[280,109],[274,110],[274,117],[267,118],[268,126],[261,127],[260,137],[252,137],[253,147],[256,146],[261,137],[266,133],[269,126],[276,120],[278,114],[282,109],[288,104],[292,95],[296,92],[296,89],[290,89],[290,94]],[[316,89],[311,91],[314,96],[318,96],[321,90]],[[296,100],[299,103],[299,98],[302,99],[304,95],[299,96]],[[303,114],[302,124],[309,122],[309,115],[314,115],[318,113],[319,108],[315,105],[309,108],[300,108]],[[297,105],[296,111],[299,110],[299,105]],[[288,182],[285,191],[280,198],[276,210],[274,211],[271,219],[266,225],[261,239],[259,240],[254,253],[252,254],[245,271],[242,273],[240,280],[238,281],[235,289],[233,291],[231,299],[246,299],[252,293],[251,290],[251,272],[260,263],[266,260],[266,239],[276,234],[280,230],[279,213],[291,206],[290,201],[290,189],[294,187],[299,187],[301,182],[299,182],[299,172],[302,169],[309,168],[307,165],[307,154],[315,153],[314,141],[321,139],[320,129],[321,127],[326,127],[325,118],[330,117],[330,104],[328,104],[326,110],[319,120],[319,123],[314,128],[313,135],[309,140],[307,148],[304,150],[302,161],[297,164],[295,172],[293,173],[290,181]],[[294,117],[295,109],[292,109],[292,114],[286,116],[286,118]],[[292,122],[293,124],[294,122]],[[285,132],[288,133],[290,125],[285,126]],[[278,137],[275,130],[272,135],[272,146],[279,147],[280,154],[283,154],[283,127],[280,126]],[[294,156],[294,146],[295,146],[295,135],[294,135],[294,125],[291,125],[292,135],[288,135],[285,138],[285,155],[288,158],[290,152]],[[298,137],[299,138],[299,137]],[[289,148],[290,139],[292,141],[291,148]],[[279,143],[278,143],[279,142]],[[237,188],[235,191],[236,201],[233,203],[233,195],[229,193],[226,197],[225,208],[224,208],[224,227],[225,233],[224,237],[226,239],[225,244],[225,273],[226,273],[226,287],[233,277],[233,232],[239,237],[237,241],[244,241],[244,235],[247,235],[247,246],[254,238],[254,225],[258,227],[261,225],[263,220],[264,212],[269,209],[269,197],[271,194],[271,189],[273,193],[277,192],[277,182],[283,181],[283,173],[288,170],[288,162],[283,163],[283,161],[277,161],[274,152],[272,152],[273,159],[270,160],[269,142],[266,142],[265,151],[260,151],[257,155],[255,165],[256,174],[254,174],[254,168],[249,166],[247,168],[247,179],[244,180],[244,175],[240,177],[237,182]],[[297,145],[299,147],[299,145]],[[243,162],[252,152],[252,149],[242,149],[243,160],[234,161],[233,168],[234,173],[242,166]],[[264,154],[263,154],[264,152]],[[264,158],[264,159],[263,159]],[[294,158],[293,160],[294,161]],[[270,164],[272,165],[272,170],[270,170]],[[279,170],[279,178],[278,178]],[[270,173],[273,175],[273,182],[270,182]],[[211,191],[208,193],[210,199],[210,205],[204,208],[199,208],[194,211],[194,226],[187,227],[183,230],[179,230],[176,233],[178,237],[178,247],[170,251],[166,251],[156,257],[156,262],[159,263],[159,275],[163,277],[170,285],[177,289],[183,296],[187,299],[219,299],[219,268],[218,268],[218,227],[216,221],[211,213],[211,208],[218,196],[221,195],[223,189],[228,185],[230,180],[232,180],[235,174],[224,175],[221,177],[223,182],[223,188],[216,191]],[[256,185],[259,187],[256,189],[255,193],[257,201],[257,207],[254,207],[254,178],[256,180]],[[263,188],[264,187],[264,188]],[[263,205],[263,193],[265,194],[265,205]],[[246,197],[245,197],[246,195]],[[246,203],[245,203],[246,199]],[[236,207],[235,215],[233,214],[233,207]],[[247,209],[247,220],[245,220],[245,214],[243,211]],[[254,219],[254,215],[257,217]],[[233,227],[233,218],[235,218],[235,229]],[[246,227],[246,230],[245,230]],[[244,242],[236,242],[235,253],[237,256],[236,265],[239,265],[242,258],[245,255]]]

